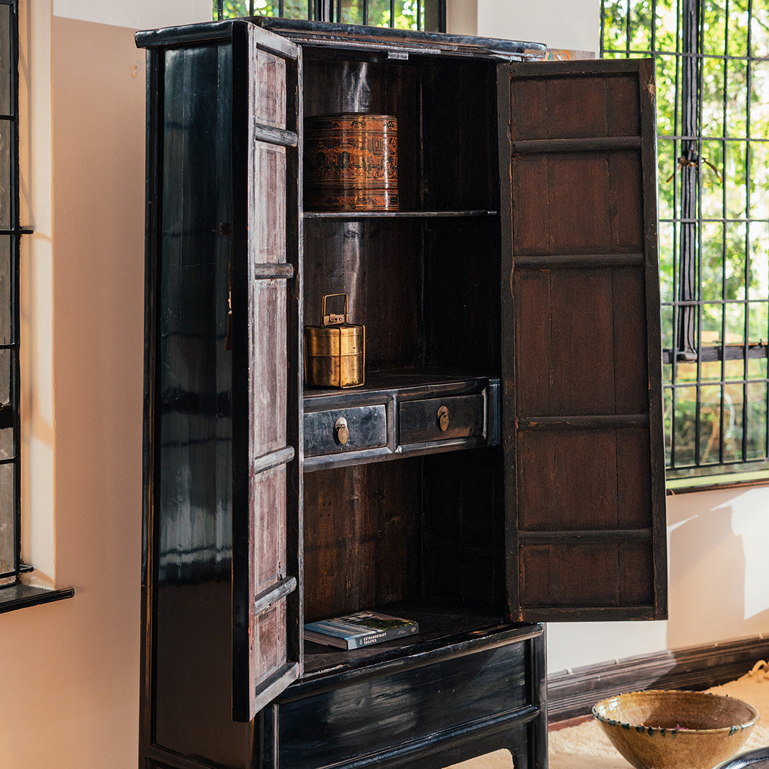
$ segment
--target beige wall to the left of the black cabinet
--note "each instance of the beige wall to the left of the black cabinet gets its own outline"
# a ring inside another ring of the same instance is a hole
[[[126,5],[22,2],[23,547],[76,594],[0,615],[3,769],[138,761],[144,52],[88,20]]]

